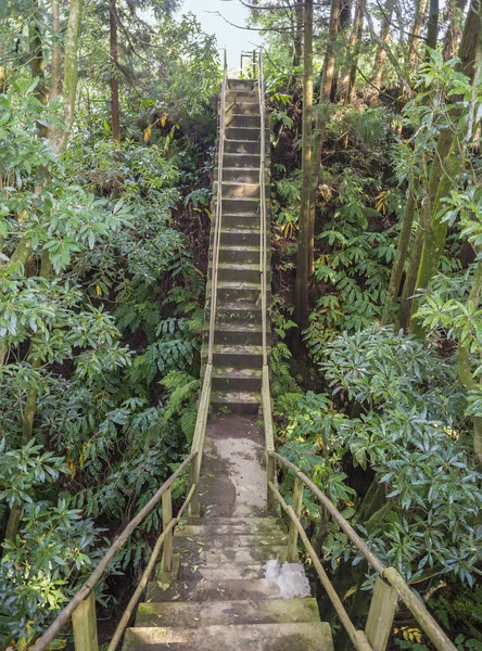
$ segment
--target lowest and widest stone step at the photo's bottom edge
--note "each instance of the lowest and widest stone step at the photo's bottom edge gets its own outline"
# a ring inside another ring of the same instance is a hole
[[[183,649],[189,651],[333,651],[329,624],[295,622],[237,624],[199,628],[132,627],[124,639],[124,651]]]

